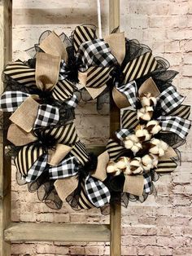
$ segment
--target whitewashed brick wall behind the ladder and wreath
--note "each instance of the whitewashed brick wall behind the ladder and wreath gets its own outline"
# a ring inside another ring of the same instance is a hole
[[[46,29],[68,34],[76,24],[97,24],[96,1],[38,0],[14,2],[13,58],[26,59],[24,50],[33,46]],[[103,27],[107,28],[107,0],[102,0]],[[192,1],[121,0],[121,30],[151,46],[180,72],[174,81],[192,104]],[[44,7],[46,6],[46,9]],[[107,29],[103,29],[107,33]],[[108,117],[95,111],[94,103],[76,109],[76,126],[85,143],[106,143]],[[101,137],[102,135],[102,137]],[[122,255],[192,255],[191,138],[181,147],[182,166],[156,183],[158,196],[143,204],[130,203],[122,210]],[[16,222],[107,223],[98,210],[75,212],[68,205],[50,210],[36,194],[15,183],[12,171],[12,219]],[[12,245],[12,256],[109,255],[103,243],[27,243]]]

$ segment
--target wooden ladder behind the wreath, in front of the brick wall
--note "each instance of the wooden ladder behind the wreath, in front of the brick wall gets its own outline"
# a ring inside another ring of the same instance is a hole
[[[11,60],[12,1],[0,1],[0,73]],[[109,31],[120,26],[120,0],[109,0]],[[0,84],[1,93],[3,83]],[[112,101],[112,100],[111,100]],[[110,134],[120,125],[120,113],[111,102]],[[111,205],[110,224],[12,223],[11,160],[4,156],[0,134],[0,256],[11,255],[11,241],[110,242],[110,255],[120,256],[120,205]]]

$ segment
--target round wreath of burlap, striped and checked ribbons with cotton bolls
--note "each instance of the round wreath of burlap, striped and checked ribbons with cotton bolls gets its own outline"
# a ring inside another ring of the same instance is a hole
[[[153,182],[176,169],[190,130],[190,106],[172,86],[177,72],[168,61],[124,33],[99,39],[85,25],[69,38],[46,31],[27,52],[29,60],[5,67],[0,99],[10,113],[3,129],[17,182],[52,209],[67,201],[103,214],[111,202],[127,206],[155,193]],[[106,113],[109,95],[120,128],[96,157],[78,137],[74,109],[81,99],[97,99],[98,113]]]

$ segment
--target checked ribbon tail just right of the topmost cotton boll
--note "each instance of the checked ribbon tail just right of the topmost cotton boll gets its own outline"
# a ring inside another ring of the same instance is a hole
[[[169,86],[157,98],[162,114],[169,113],[172,109],[177,108],[184,99],[185,97],[180,95],[174,86]]]

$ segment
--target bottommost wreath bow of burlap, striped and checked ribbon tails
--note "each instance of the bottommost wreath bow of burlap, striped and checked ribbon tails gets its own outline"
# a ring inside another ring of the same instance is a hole
[[[109,160],[108,153],[98,156],[98,165],[94,172],[79,180],[77,175],[70,179],[58,179],[55,188],[62,201],[68,201],[74,209],[90,209],[102,207],[110,202],[111,195],[103,181],[107,178],[106,166]],[[76,199],[76,191],[77,197]],[[72,201],[75,197],[76,203]]]

